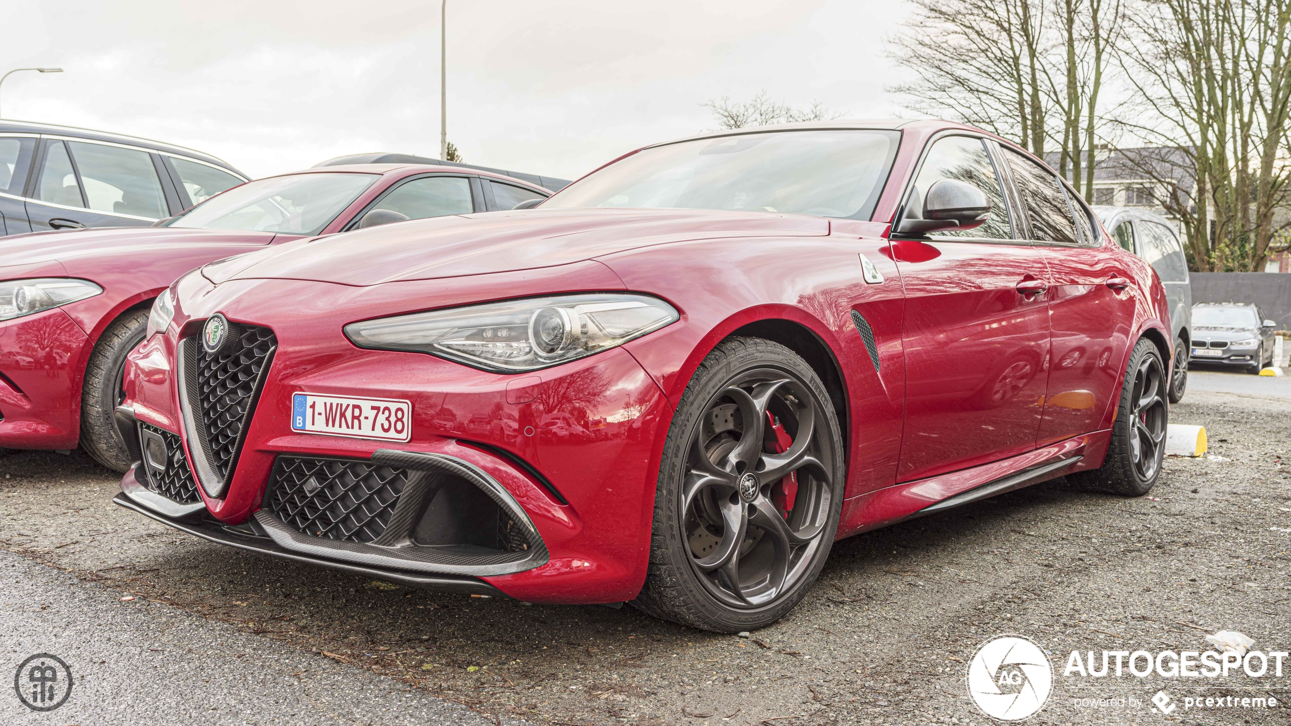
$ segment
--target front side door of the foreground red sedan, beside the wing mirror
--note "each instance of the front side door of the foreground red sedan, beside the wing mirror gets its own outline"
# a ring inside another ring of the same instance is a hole
[[[910,205],[937,181],[968,182],[991,200],[986,223],[923,239],[892,236],[906,300],[899,481],[1035,446],[1050,346],[1048,273],[1010,209],[993,144],[959,134],[933,139],[906,192]]]

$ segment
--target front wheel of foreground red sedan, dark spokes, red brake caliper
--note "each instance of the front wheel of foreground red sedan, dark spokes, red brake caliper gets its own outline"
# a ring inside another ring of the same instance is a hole
[[[767,420],[777,423],[768,429]],[[825,565],[844,476],[838,418],[811,366],[760,338],[722,342],[673,417],[649,570],[633,605],[719,633],[775,623]]]

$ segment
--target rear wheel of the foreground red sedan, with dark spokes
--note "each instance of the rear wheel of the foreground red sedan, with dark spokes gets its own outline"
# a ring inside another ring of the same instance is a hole
[[[1161,352],[1152,340],[1143,338],[1130,355],[1103,467],[1077,472],[1072,478],[1096,491],[1122,496],[1148,494],[1161,476],[1168,423]]]

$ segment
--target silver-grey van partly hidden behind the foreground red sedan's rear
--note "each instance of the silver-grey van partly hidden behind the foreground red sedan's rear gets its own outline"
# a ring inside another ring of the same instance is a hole
[[[1188,351],[1193,340],[1193,289],[1188,280],[1188,258],[1170,221],[1132,206],[1095,206],[1095,214],[1122,249],[1131,251],[1157,271],[1170,303],[1170,329],[1175,358],[1170,364],[1170,402],[1177,404],[1188,389]]]

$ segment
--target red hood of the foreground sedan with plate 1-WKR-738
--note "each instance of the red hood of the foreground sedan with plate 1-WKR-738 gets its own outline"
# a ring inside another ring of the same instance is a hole
[[[368,286],[569,264],[634,248],[718,237],[824,236],[829,221],[691,209],[493,211],[298,240],[208,264],[214,284],[290,279]]]

